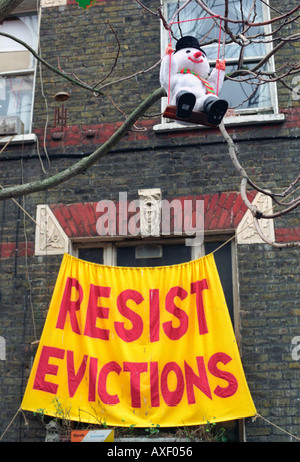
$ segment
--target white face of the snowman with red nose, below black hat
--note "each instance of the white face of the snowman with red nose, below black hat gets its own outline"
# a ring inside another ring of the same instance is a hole
[[[206,78],[209,73],[209,63],[205,54],[197,48],[182,48],[174,53],[178,69],[189,69],[200,77]]]

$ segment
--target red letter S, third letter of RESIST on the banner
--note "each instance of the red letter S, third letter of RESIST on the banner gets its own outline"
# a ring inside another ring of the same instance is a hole
[[[126,329],[124,327],[124,322],[115,322],[115,329],[118,336],[124,340],[124,342],[133,342],[142,335],[143,320],[140,315],[128,308],[126,305],[128,300],[133,300],[139,305],[144,298],[137,290],[127,289],[120,293],[117,298],[118,310],[125,318],[131,321],[132,328]]]

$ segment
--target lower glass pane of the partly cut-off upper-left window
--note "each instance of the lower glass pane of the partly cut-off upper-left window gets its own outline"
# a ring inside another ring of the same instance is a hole
[[[0,82],[0,116],[18,116],[28,133],[31,122],[33,75],[2,77]]]

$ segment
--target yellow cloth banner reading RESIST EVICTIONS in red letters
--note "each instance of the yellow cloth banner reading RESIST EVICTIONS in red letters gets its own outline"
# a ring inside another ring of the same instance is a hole
[[[156,268],[65,254],[21,407],[125,427],[255,415],[213,254]]]

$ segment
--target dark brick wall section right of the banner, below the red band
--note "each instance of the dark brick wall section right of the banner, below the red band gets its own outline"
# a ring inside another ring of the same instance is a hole
[[[299,251],[265,245],[238,253],[242,359],[259,414],[299,437],[299,361],[291,340],[299,335]],[[248,441],[295,441],[258,418]]]

